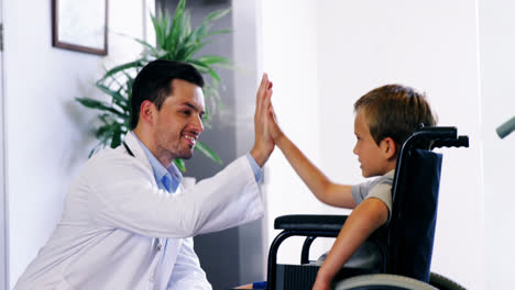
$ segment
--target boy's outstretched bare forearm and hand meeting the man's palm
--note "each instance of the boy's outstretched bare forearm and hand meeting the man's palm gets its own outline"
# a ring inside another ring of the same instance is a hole
[[[351,187],[333,183],[318,169],[300,149],[283,133],[272,104],[270,105],[269,132],[275,145],[283,152],[304,183],[321,202],[329,205],[353,209],[355,201],[352,198]]]

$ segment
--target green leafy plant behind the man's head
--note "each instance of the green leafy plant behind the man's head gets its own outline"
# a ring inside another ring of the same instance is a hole
[[[109,70],[95,83],[105,92],[109,101],[99,101],[91,98],[76,98],[76,100],[90,109],[100,110],[100,125],[96,130],[99,143],[91,149],[90,156],[98,149],[110,146],[118,147],[123,136],[129,132],[129,118],[131,88],[135,75],[149,62],[156,58],[177,60],[191,64],[205,77],[206,85],[204,94],[206,97],[206,114],[204,123],[209,129],[209,121],[220,103],[218,93],[221,79],[215,67],[230,68],[230,60],[217,55],[197,56],[197,53],[209,43],[213,36],[229,33],[228,30],[212,30],[215,21],[224,16],[229,9],[217,10],[204,19],[200,25],[193,29],[189,11],[185,9],[186,0],[180,0],[174,12],[173,20],[169,13],[157,12],[151,15],[156,35],[156,45],[153,46],[142,40],[135,40],[143,46],[141,56],[130,63],[118,65]],[[221,164],[220,157],[206,144],[197,142],[195,149],[209,157],[217,164]],[[184,160],[175,159],[176,166],[185,171]]]

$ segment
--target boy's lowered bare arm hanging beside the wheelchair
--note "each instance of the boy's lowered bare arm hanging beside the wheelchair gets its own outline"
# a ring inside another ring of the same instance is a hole
[[[388,209],[380,199],[370,198],[355,207],[318,270],[314,290],[329,290],[337,272],[364,241],[388,219]]]

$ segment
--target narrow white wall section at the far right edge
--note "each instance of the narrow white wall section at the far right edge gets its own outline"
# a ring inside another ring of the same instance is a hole
[[[486,289],[515,289],[515,134],[504,140],[495,127],[515,115],[515,3],[480,0],[482,142],[484,147]]]

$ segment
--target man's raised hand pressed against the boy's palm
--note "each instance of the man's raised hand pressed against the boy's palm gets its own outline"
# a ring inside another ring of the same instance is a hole
[[[272,97],[272,81],[269,76],[263,74],[260,88],[255,98],[255,114],[254,114],[254,146],[250,154],[255,161],[262,167],[270,155],[274,150],[274,141],[270,136],[267,129],[267,120],[270,119],[269,108],[271,105],[270,98]]]

